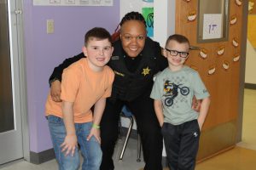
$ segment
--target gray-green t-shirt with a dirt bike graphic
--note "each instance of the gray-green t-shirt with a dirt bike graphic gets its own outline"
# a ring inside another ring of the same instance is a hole
[[[179,125],[198,118],[192,107],[192,99],[205,99],[210,94],[198,72],[184,65],[180,71],[168,67],[156,76],[150,94],[152,99],[160,99],[165,122]]]

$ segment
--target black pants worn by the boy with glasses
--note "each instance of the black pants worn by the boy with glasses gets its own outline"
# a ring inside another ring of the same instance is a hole
[[[181,125],[164,123],[162,134],[168,166],[172,170],[194,170],[199,147],[200,128],[197,120]]]

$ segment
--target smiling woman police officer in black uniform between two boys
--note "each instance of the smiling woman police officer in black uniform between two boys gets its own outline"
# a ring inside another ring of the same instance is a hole
[[[137,130],[143,144],[145,170],[160,170],[162,136],[149,98],[153,77],[167,66],[158,42],[147,37],[142,14],[125,14],[120,22],[119,40],[113,42],[113,56],[108,65],[115,73],[112,95],[107,99],[101,122],[102,170],[113,169],[113,150],[118,138],[119,113],[126,105],[136,117]],[[52,98],[60,100],[61,73],[64,68],[83,58],[83,54],[66,59],[49,78]],[[57,80],[57,81],[56,81]]]

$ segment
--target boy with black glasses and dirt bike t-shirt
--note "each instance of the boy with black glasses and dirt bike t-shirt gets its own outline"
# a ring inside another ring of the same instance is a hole
[[[168,37],[164,55],[169,66],[156,76],[150,97],[162,127],[169,167],[193,170],[210,105],[209,93],[198,72],[184,65],[189,56],[187,37]],[[199,112],[192,109],[194,95],[202,99]]]

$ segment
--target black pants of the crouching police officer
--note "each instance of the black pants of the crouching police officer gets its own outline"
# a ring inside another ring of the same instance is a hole
[[[141,135],[145,170],[162,170],[163,139],[159,122],[154,113],[154,100],[149,92],[131,102],[107,99],[101,122],[102,165],[101,170],[113,170],[113,150],[119,134],[119,114],[126,105],[136,117],[137,130]],[[136,161],[136,160],[134,160]]]

